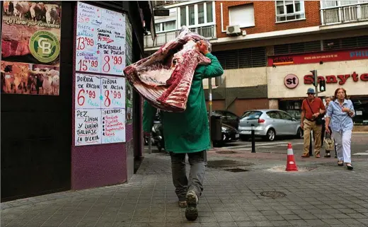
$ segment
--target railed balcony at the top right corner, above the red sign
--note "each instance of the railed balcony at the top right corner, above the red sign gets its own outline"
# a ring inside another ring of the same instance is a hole
[[[321,9],[321,24],[334,25],[368,20],[368,3]]]

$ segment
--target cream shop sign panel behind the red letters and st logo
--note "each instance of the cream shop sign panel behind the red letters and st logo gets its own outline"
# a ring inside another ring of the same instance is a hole
[[[309,71],[316,69],[318,76],[349,75],[344,84],[326,83],[326,92],[319,96],[333,95],[336,88],[343,87],[348,95],[367,95],[368,81],[362,81],[360,76],[366,74],[364,78],[368,79],[368,59],[344,61],[344,62],[325,62],[323,64],[297,64],[289,66],[277,66],[276,68],[267,67],[268,74],[268,98],[297,98],[305,97],[306,90],[314,86],[304,84],[304,76],[311,75]],[[353,81],[353,73],[358,74],[358,80]],[[290,89],[284,85],[284,77],[287,74],[294,74],[299,78],[299,84],[296,88]],[[337,81],[340,81],[337,78]]]

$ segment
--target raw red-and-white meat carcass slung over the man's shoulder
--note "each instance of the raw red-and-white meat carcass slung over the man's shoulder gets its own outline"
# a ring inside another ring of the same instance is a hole
[[[209,64],[196,47],[205,37],[183,26],[175,40],[161,46],[154,54],[124,69],[127,81],[151,105],[168,112],[186,108],[192,78],[198,64]]]

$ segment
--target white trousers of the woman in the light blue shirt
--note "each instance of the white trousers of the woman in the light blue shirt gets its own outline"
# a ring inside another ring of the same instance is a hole
[[[343,132],[332,132],[333,139],[335,139],[336,151],[338,153],[338,161],[344,161],[344,163],[351,163],[351,150],[350,144],[352,141],[352,130]]]

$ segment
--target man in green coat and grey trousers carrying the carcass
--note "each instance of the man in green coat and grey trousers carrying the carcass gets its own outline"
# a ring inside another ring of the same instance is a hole
[[[197,42],[197,48],[211,64],[198,65],[193,75],[192,86],[184,112],[162,112],[165,147],[171,155],[173,185],[179,199],[179,206],[186,207],[185,217],[194,221],[198,217],[197,203],[203,191],[203,180],[207,165],[207,150],[210,147],[209,123],[202,79],[222,76],[217,57],[209,52],[207,44]],[[143,129],[151,132],[156,108],[144,102]],[[189,178],[185,172],[185,154],[190,163]]]

